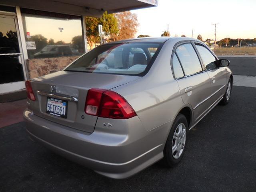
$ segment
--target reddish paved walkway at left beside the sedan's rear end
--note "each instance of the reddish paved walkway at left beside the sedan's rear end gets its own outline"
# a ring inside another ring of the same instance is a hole
[[[27,100],[0,103],[0,128],[23,121]]]

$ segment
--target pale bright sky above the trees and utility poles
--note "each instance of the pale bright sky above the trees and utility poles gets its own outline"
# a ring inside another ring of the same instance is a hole
[[[164,30],[171,36],[182,34],[203,40],[214,39],[214,23],[218,23],[216,40],[226,37],[256,38],[256,0],[158,0],[158,6],[133,10],[138,15],[138,32],[160,36]]]

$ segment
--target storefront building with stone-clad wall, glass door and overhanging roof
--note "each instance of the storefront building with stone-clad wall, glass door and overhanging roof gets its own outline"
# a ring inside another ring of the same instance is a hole
[[[85,16],[157,5],[158,0],[1,0],[0,102],[24,94],[25,80],[62,70],[86,52]]]

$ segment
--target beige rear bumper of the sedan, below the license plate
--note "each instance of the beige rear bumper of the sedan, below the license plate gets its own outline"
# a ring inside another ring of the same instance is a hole
[[[33,140],[57,154],[82,164],[110,178],[127,178],[163,157],[164,143],[170,124],[147,132],[138,117],[124,122],[129,134],[102,132],[102,128],[89,134],[56,124],[24,111],[27,132]],[[100,122],[100,120],[99,120]]]

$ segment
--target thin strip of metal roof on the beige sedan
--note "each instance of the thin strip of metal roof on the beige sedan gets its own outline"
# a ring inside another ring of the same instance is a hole
[[[184,40],[196,40],[201,42],[198,39],[188,38],[188,37],[144,37],[144,38],[134,38],[134,39],[126,39],[120,41],[112,41],[106,44],[113,44],[113,43],[129,43],[129,42],[155,42],[155,43],[164,43],[168,40],[174,41],[184,41]]]

